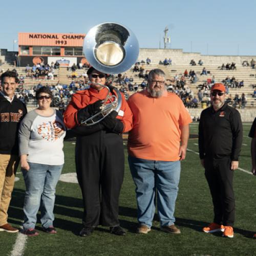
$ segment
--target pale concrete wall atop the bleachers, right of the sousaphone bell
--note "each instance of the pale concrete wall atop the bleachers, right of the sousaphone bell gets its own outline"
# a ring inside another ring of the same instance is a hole
[[[147,57],[151,58],[152,63],[158,64],[160,60],[165,58],[171,58],[173,65],[188,65],[191,59],[198,62],[202,59],[204,65],[214,65],[221,66],[222,63],[235,62],[237,65],[242,64],[244,60],[248,62],[253,58],[256,60],[256,55],[254,56],[229,56],[229,55],[202,55],[201,53],[189,53],[183,52],[182,49],[145,49],[141,48],[138,60],[146,60]]]

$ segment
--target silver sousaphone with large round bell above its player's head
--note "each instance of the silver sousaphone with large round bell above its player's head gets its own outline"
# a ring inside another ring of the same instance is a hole
[[[105,74],[120,74],[130,69],[139,55],[139,43],[134,33],[117,23],[102,23],[88,32],[83,41],[83,53],[90,65]],[[91,82],[89,82],[90,84]],[[109,90],[99,113],[83,120],[83,125],[93,125],[108,116],[113,110],[119,112],[122,97],[117,88]],[[115,94],[115,95],[114,95]],[[108,102],[108,103],[107,103]]]

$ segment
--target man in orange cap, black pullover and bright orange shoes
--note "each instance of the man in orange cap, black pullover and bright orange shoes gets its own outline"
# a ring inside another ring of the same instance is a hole
[[[202,111],[199,122],[199,153],[208,182],[214,222],[203,231],[223,231],[233,237],[233,171],[238,168],[243,127],[239,112],[225,103],[225,86],[215,83],[210,92],[211,106]]]

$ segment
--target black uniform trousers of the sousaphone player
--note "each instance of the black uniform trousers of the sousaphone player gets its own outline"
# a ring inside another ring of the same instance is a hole
[[[124,174],[122,137],[105,131],[77,137],[75,159],[84,206],[83,225],[119,225],[119,194]]]

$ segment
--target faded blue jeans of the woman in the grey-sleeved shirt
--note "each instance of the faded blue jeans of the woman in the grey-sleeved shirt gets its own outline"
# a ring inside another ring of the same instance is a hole
[[[53,225],[55,188],[61,174],[63,164],[47,165],[29,162],[30,169],[22,170],[26,185],[24,200],[24,230],[35,228],[36,214],[41,202],[41,224],[48,228]]]

